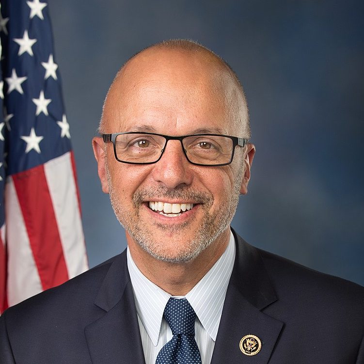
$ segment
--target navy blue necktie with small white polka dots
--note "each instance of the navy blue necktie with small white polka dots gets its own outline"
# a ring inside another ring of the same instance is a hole
[[[195,340],[196,314],[186,299],[170,298],[163,317],[172,330],[172,339],[160,349],[156,364],[201,364]]]

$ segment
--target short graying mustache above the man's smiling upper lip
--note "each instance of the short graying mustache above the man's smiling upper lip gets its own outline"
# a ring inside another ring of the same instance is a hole
[[[137,190],[133,195],[135,207],[142,205],[145,200],[156,200],[158,197],[170,198],[174,200],[188,200],[198,204],[212,205],[214,197],[210,192],[201,192],[191,189],[189,186],[179,185],[174,189],[165,186],[148,187]]]

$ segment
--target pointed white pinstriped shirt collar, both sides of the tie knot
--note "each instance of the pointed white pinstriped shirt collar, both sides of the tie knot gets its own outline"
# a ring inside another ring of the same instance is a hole
[[[234,267],[235,254],[234,236],[230,232],[230,240],[225,252],[186,295],[202,326],[214,341]],[[157,346],[164,308],[172,296],[142,274],[134,263],[129,248],[127,248],[127,267],[137,313],[153,345]]]

